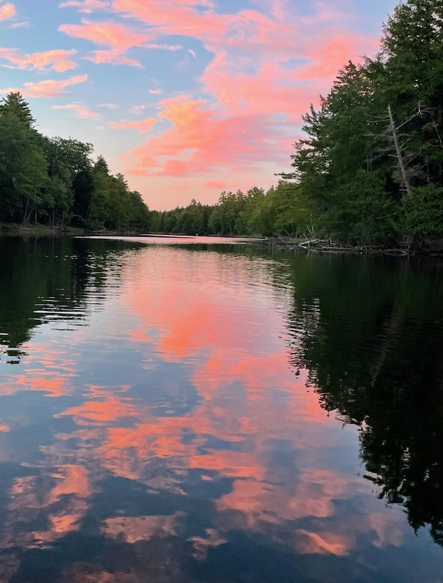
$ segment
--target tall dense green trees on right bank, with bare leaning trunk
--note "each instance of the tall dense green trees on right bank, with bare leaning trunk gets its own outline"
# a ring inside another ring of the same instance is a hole
[[[291,178],[319,235],[356,242],[443,235],[443,5],[407,0],[381,51],[348,62],[304,116]]]

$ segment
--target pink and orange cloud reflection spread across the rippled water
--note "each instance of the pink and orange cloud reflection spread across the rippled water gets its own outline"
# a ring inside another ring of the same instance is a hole
[[[349,555],[359,532],[372,532],[379,548],[401,545],[399,523],[388,526],[385,515],[371,508],[365,509],[364,520],[356,509],[341,521],[332,520],[338,501],[365,493],[365,485],[351,473],[318,467],[318,451],[339,445],[342,436],[317,395],[308,391],[307,371],[296,377],[289,366],[284,314],[291,289],[275,289],[269,271],[248,258],[147,249],[123,264],[116,294],[105,305],[110,341],[118,332],[127,342],[122,354],[146,351],[154,362],[150,366],[183,364],[199,400],[183,415],[162,416],[148,400],[131,397],[131,384],[85,383],[78,373],[83,363],[75,354],[87,330],[71,334],[69,354],[30,341],[28,350],[39,354],[38,362],[31,358],[6,382],[3,394],[39,391],[51,400],[75,394],[81,402],[53,415],[71,420],[74,427],[61,427],[53,444],[39,447],[45,479],[18,477],[10,485],[1,548],[33,548],[78,531],[100,481],[109,474],[150,487],[159,496],[187,496],[193,471],[202,483],[230,480],[229,492],[213,500],[212,526],[189,539],[199,560],[224,544],[235,528],[276,537],[296,553],[312,555]],[[121,314],[114,316],[116,303],[129,314],[127,324]],[[145,365],[140,366],[143,373]],[[160,381],[166,405],[166,389],[179,391],[177,379],[167,375],[168,368]],[[279,447],[290,462],[275,462]],[[17,528],[42,510],[46,530]],[[183,536],[185,515],[172,510],[168,516],[102,517],[100,532],[133,545]],[[297,528],[301,519],[313,521],[309,530]],[[282,533],[275,534],[275,527],[282,527]],[[66,581],[78,576],[69,568],[65,575]],[[105,573],[95,577],[114,580]]]

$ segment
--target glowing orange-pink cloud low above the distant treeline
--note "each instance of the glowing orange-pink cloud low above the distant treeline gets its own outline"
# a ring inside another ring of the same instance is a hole
[[[266,138],[272,125],[268,116],[222,116],[204,100],[183,98],[163,100],[161,107],[159,118],[172,127],[129,152],[125,158],[132,165],[127,172],[183,176],[221,168],[235,171],[239,160],[243,169],[254,168],[264,156],[281,155],[278,142]]]

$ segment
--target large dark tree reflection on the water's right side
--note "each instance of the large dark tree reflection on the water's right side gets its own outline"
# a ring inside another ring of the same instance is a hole
[[[309,263],[293,269],[293,365],[310,371],[327,411],[359,425],[377,495],[442,545],[443,264],[314,254]]]

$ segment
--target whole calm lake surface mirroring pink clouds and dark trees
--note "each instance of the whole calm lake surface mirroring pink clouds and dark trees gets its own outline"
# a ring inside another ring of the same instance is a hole
[[[0,240],[0,581],[442,582],[443,264],[185,243]]]

